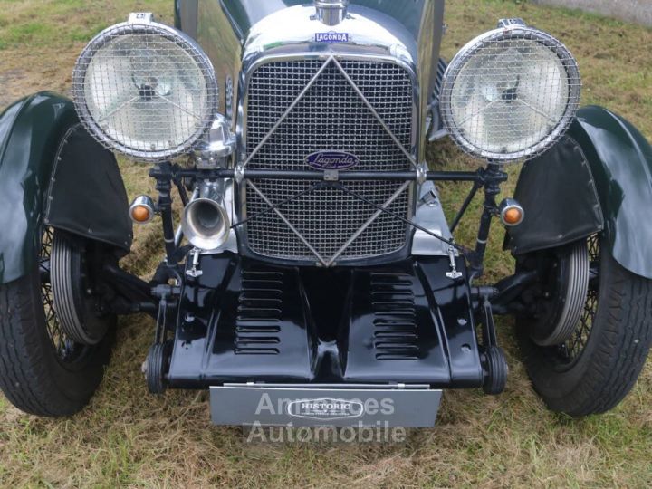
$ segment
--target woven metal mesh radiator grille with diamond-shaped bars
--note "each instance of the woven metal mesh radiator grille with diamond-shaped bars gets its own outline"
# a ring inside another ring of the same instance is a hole
[[[408,72],[393,63],[331,58],[264,64],[248,84],[246,168],[311,170],[305,159],[319,151],[355,155],[360,163],[351,170],[414,168],[406,154],[412,146],[413,102]],[[283,121],[274,129],[279,120]],[[291,199],[316,183],[253,180],[254,185],[244,184],[246,216],[263,213],[270,203]],[[378,206],[387,204],[404,186],[395,181],[344,185]],[[408,218],[410,190],[405,187],[388,210]],[[407,244],[407,225],[388,214],[378,216],[350,243],[377,208],[335,188],[313,190],[279,211],[283,217],[268,212],[247,223],[247,242],[254,253],[328,266],[391,254]]]

